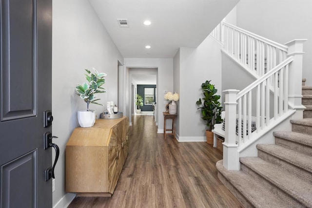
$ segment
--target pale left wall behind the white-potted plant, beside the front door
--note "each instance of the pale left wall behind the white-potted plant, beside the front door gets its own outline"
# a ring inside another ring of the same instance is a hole
[[[56,166],[56,190],[53,206],[67,207],[75,196],[65,192],[65,147],[78,127],[77,111],[86,104],[75,95],[77,83],[85,81],[84,69],[95,67],[107,74],[103,85],[107,93],[99,94],[100,103],[117,102],[117,61],[123,63],[88,0],[53,0],[52,112],[54,141],[59,145]],[[90,105],[97,114],[102,106]]]

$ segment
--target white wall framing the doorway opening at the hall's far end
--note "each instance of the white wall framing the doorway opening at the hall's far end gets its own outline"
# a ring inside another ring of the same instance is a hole
[[[163,92],[164,90],[173,91],[173,58],[125,58],[125,68],[127,69],[127,89],[126,89],[126,115],[131,116],[131,68],[157,68],[157,115],[158,133],[163,133],[164,119],[162,112],[165,111]]]

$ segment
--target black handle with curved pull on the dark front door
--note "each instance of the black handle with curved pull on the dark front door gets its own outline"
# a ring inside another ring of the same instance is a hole
[[[49,167],[45,170],[45,181],[50,180],[50,178],[55,178],[54,169],[55,169],[55,166],[56,166],[58,159],[59,159],[59,146],[57,144],[52,143],[53,138],[58,138],[58,137],[52,136],[51,132],[45,132],[44,133],[44,150],[46,150],[50,147],[53,147],[55,150],[54,164],[53,164],[52,168]]]

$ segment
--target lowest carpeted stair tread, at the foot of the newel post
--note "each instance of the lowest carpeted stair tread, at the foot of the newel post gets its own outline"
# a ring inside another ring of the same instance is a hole
[[[265,189],[251,175],[240,170],[226,170],[223,160],[216,163],[219,172],[256,208],[287,208],[289,204]]]

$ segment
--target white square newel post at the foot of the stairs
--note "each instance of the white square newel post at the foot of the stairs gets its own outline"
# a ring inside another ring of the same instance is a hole
[[[227,170],[239,170],[238,145],[236,144],[236,95],[239,90],[225,90],[225,138],[223,142],[223,166]]]

